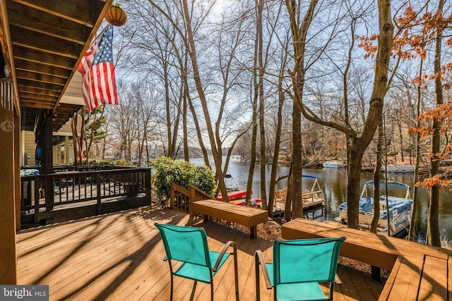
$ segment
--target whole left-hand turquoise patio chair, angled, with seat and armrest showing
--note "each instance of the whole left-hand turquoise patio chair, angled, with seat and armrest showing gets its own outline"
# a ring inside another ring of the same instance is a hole
[[[204,228],[174,226],[155,223],[162,235],[163,245],[167,256],[164,260],[169,263],[171,273],[171,295],[174,276],[180,276],[194,280],[191,298],[193,300],[196,283],[210,283],[210,300],[213,300],[213,276],[225,263],[231,254],[234,256],[235,297],[239,300],[239,279],[237,273],[237,246],[229,241],[221,252],[212,252],[208,249],[207,235]],[[227,250],[232,247],[232,252]],[[176,271],[173,271],[173,261],[182,262]]]

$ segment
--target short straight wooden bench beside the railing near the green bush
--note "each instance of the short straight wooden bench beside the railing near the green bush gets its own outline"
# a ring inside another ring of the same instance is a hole
[[[265,210],[234,205],[216,199],[203,199],[193,202],[191,210],[195,214],[201,214],[205,221],[208,221],[210,216],[214,219],[249,227],[251,238],[257,235],[256,226],[268,221],[268,214]]]

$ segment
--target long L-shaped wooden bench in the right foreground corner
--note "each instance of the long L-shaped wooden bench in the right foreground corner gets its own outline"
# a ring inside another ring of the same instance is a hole
[[[379,300],[452,300],[452,252],[384,235],[295,219],[284,239],[345,236],[340,255],[391,270]]]

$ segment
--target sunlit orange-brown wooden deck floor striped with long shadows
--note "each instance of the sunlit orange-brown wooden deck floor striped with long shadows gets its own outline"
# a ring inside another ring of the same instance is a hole
[[[210,250],[228,240],[239,250],[241,300],[255,300],[254,251],[272,258],[272,244],[179,211],[148,207],[105,214],[18,235],[18,284],[49,285],[50,300],[169,300],[169,268],[153,223],[203,226]],[[225,269],[226,268],[226,269]],[[383,286],[355,269],[339,266],[342,285],[335,300],[377,300]],[[232,260],[214,278],[215,300],[234,300]],[[175,278],[174,300],[189,300],[193,281]],[[261,297],[273,300],[261,281]],[[209,285],[198,284],[196,300],[210,300]]]

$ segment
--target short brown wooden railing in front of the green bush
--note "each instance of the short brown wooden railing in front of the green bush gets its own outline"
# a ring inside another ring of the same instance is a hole
[[[192,185],[189,185],[189,190],[186,190],[175,183],[170,184],[169,194],[169,207],[188,214],[192,214],[191,204],[193,202],[201,199],[213,199],[213,197]]]

